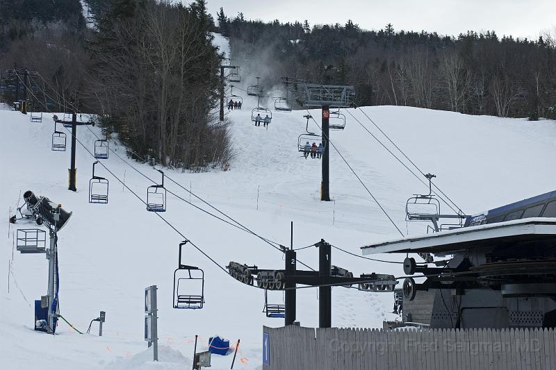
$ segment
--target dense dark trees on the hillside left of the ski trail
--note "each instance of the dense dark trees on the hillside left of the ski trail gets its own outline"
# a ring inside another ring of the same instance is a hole
[[[95,29],[85,26],[79,0],[44,3],[71,6],[0,19],[0,36],[12,35],[0,44],[1,70],[16,65],[44,77],[30,81],[34,106],[69,111],[71,99],[136,158],[189,171],[229,165],[228,126],[213,117],[222,57],[206,1],[91,0]]]

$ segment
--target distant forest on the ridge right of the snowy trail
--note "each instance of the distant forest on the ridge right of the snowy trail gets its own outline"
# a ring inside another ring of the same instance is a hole
[[[527,40],[495,31],[395,31],[392,24],[366,31],[352,21],[311,27],[231,18],[222,8],[217,19],[236,63],[270,81],[354,85],[357,104],[366,106],[556,118],[554,33]]]

